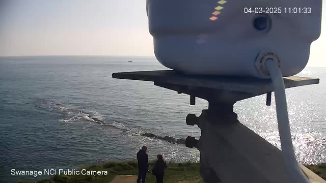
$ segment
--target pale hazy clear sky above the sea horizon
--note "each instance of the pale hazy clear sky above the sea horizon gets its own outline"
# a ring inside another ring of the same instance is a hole
[[[145,4],[145,0],[0,0],[0,56],[154,56]],[[324,17],[326,5],[309,66],[326,67]]]

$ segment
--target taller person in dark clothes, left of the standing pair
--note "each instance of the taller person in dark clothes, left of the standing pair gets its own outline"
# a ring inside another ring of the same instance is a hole
[[[137,153],[137,162],[138,162],[138,179],[137,183],[141,182],[145,183],[146,180],[146,173],[148,171],[148,155],[146,153],[147,147],[143,146]]]

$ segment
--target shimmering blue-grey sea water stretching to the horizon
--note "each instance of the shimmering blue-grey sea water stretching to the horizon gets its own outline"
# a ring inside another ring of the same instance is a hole
[[[13,176],[11,169],[134,160],[142,145],[150,159],[199,161],[196,149],[142,134],[199,138],[199,128],[187,126],[185,117],[207,109],[206,101],[190,106],[187,95],[152,82],[112,78],[114,72],[164,69],[150,57],[0,57],[1,182],[35,179]],[[326,162],[326,68],[307,67],[299,75],[318,77],[320,84],[286,90],[297,160]],[[237,102],[234,110],[241,123],[280,148],[274,100],[265,106],[259,96]]]

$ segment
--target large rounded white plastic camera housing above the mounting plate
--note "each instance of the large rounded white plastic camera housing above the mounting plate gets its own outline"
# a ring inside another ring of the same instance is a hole
[[[293,76],[321,31],[322,0],[147,0],[146,8],[157,60],[185,74],[269,78],[259,60],[271,56]]]

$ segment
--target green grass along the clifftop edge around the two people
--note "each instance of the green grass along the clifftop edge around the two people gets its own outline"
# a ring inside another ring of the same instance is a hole
[[[305,165],[321,178],[326,180],[326,163],[319,165]],[[154,162],[150,162],[150,170],[154,167]],[[18,183],[107,183],[116,175],[138,175],[137,162],[108,162],[102,165],[92,165],[89,167],[78,168],[78,170],[106,170],[108,175],[55,175],[51,179],[38,181],[17,181]],[[168,169],[164,176],[164,182],[192,182],[202,183],[203,180],[199,174],[199,163],[168,163]],[[147,174],[148,183],[156,182],[155,176]]]

